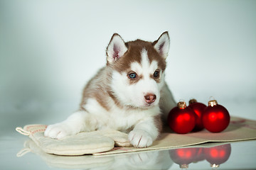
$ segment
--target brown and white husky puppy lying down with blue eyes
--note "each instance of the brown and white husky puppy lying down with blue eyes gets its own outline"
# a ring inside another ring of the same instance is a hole
[[[159,136],[161,117],[176,106],[164,80],[170,40],[124,42],[114,33],[107,46],[107,64],[90,79],[80,109],[66,120],[48,125],[44,135],[63,138],[110,128],[127,132],[134,147],[149,147]]]

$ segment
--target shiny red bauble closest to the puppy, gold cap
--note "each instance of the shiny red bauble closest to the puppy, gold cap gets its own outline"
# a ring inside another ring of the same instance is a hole
[[[168,124],[174,132],[185,134],[191,132],[196,125],[196,113],[186,107],[185,102],[178,102],[178,106],[171,109],[168,115]]]

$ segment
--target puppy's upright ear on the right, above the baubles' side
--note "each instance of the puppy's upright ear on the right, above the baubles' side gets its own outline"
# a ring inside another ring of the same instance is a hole
[[[160,35],[159,39],[153,42],[154,49],[166,59],[170,48],[170,38],[168,32],[164,32]]]

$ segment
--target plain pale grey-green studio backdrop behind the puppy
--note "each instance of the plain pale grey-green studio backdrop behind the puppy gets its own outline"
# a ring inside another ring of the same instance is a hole
[[[64,120],[113,33],[154,41],[166,30],[176,101],[213,96],[256,120],[256,1],[0,0],[0,128]]]

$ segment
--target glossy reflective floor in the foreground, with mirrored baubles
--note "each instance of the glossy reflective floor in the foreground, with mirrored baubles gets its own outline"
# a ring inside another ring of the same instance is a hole
[[[0,137],[1,169],[256,169],[256,140],[108,156],[46,154],[28,137]]]

